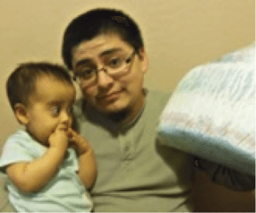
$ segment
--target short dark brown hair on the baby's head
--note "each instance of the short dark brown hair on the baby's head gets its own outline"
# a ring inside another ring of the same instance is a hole
[[[42,76],[54,77],[73,84],[68,72],[62,66],[47,62],[22,63],[11,73],[6,83],[7,96],[13,110],[17,103],[28,105],[29,97],[36,89],[36,82]]]

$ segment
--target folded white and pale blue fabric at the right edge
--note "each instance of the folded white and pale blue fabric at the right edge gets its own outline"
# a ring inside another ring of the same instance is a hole
[[[168,146],[255,176],[256,49],[192,69],[160,116]]]

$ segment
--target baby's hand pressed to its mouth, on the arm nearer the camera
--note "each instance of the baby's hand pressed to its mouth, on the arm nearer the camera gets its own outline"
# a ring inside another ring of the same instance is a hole
[[[66,151],[67,145],[67,129],[65,129],[61,125],[58,125],[55,131],[51,135],[49,135],[49,147],[58,147],[58,149],[63,149],[63,151]]]

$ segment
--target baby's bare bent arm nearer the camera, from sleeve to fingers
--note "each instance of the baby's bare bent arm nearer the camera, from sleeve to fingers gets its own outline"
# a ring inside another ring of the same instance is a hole
[[[34,193],[44,187],[54,176],[67,150],[67,132],[57,128],[49,136],[49,149],[31,163],[10,164],[7,175],[24,193]]]

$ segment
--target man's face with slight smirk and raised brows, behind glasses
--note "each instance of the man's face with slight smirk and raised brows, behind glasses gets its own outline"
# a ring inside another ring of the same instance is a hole
[[[116,34],[104,34],[80,43],[73,49],[73,72],[78,66],[90,63],[97,69],[105,68],[109,58],[131,55],[134,49]],[[84,61],[84,62],[83,62]],[[108,70],[108,68],[107,68]],[[143,77],[148,71],[148,57],[143,49],[131,58],[127,72],[119,77],[97,72],[96,83],[88,86],[80,82],[80,89],[91,107],[105,114],[123,110],[139,111],[143,107]]]

